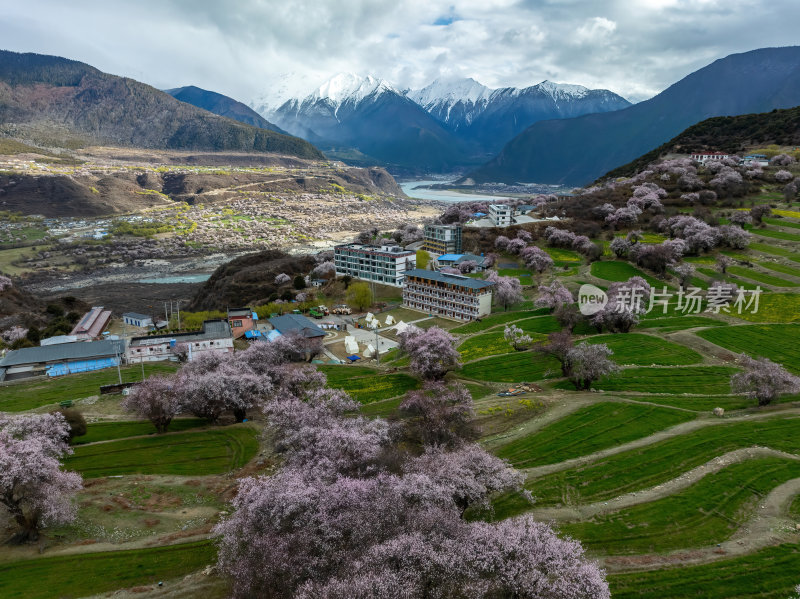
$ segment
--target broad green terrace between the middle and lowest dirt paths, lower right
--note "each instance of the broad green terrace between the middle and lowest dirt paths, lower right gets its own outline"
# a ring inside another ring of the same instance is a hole
[[[703,547],[727,540],[750,517],[755,502],[798,476],[800,461],[750,460],[663,499],[559,528],[606,555]]]

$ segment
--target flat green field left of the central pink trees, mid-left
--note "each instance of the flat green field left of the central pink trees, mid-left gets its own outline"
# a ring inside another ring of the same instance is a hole
[[[222,474],[241,468],[258,452],[257,433],[246,425],[80,445],[65,460],[85,478],[118,474]]]

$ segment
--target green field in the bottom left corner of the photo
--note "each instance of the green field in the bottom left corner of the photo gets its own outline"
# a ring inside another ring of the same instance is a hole
[[[199,541],[0,563],[0,597],[77,599],[156,584],[214,563],[216,553],[211,541]]]

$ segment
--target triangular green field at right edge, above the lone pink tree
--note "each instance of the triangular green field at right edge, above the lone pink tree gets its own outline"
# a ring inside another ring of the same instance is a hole
[[[698,331],[698,337],[736,353],[764,357],[800,374],[800,324],[762,324]]]

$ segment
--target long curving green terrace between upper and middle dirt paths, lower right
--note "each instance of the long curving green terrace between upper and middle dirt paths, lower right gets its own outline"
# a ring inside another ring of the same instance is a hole
[[[709,425],[532,480],[526,487],[536,497],[537,505],[606,501],[672,480],[730,451],[755,446],[797,453],[800,451],[800,418]],[[497,505],[498,514],[504,516],[527,507],[528,504],[513,496],[504,497]]]

